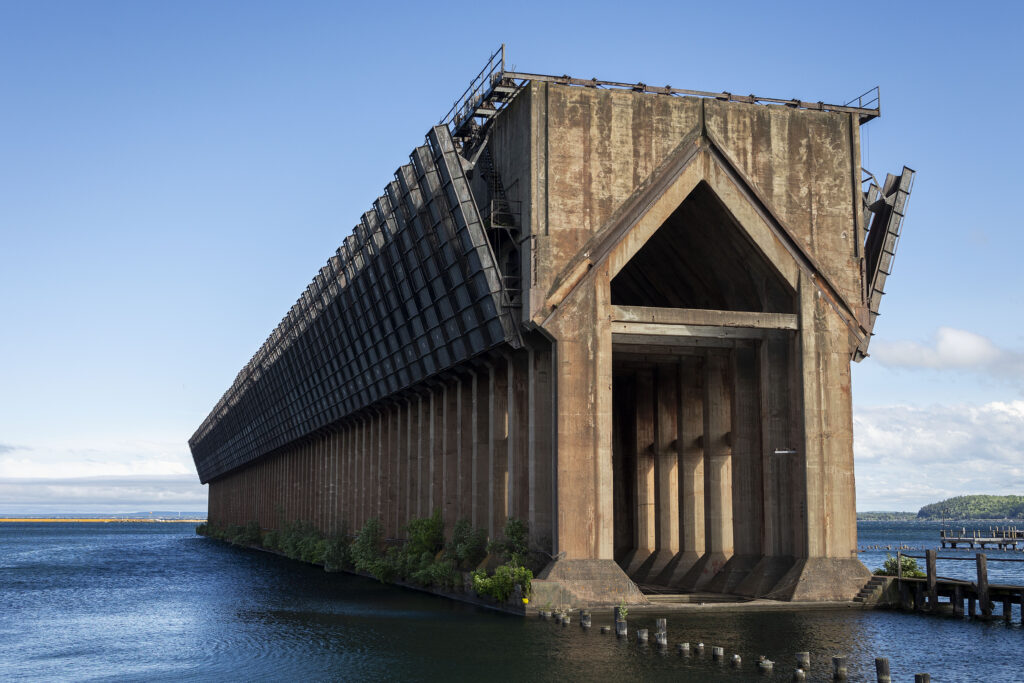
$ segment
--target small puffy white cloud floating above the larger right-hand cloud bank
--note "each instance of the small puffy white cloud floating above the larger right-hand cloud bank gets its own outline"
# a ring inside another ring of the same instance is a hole
[[[987,337],[939,328],[931,344],[915,341],[877,340],[871,356],[890,368],[928,368],[934,370],[971,370],[994,375],[1024,375],[1024,353],[1002,349]]]

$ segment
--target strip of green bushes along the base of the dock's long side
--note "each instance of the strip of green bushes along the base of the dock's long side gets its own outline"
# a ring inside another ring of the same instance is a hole
[[[406,541],[384,538],[380,519],[373,518],[353,537],[343,526],[342,532],[328,538],[306,521],[284,521],[279,512],[278,528],[263,531],[251,521],[245,525],[218,527],[200,524],[196,532],[239,546],[262,547],[290,558],[323,564],[328,571],[351,569],[388,583],[409,584],[455,590],[469,584],[481,595],[506,602],[522,591],[523,602],[531,595],[534,571],[528,566],[543,553],[529,549],[529,528],[520,519],[510,517],[504,536],[487,543],[483,529],[473,528],[460,519],[445,542],[444,521],[440,510],[406,525]],[[504,560],[494,573],[478,568],[490,553]],[[471,581],[470,581],[471,580]]]

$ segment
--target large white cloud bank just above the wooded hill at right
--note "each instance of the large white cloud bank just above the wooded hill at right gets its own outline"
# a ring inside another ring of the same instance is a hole
[[[1024,400],[854,411],[858,510],[1024,494]]]

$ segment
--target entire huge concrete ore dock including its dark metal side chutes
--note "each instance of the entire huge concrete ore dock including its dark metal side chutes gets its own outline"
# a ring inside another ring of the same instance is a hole
[[[850,364],[913,179],[862,182],[877,97],[497,55],[189,440],[210,522],[517,517],[556,602],[852,599]]]

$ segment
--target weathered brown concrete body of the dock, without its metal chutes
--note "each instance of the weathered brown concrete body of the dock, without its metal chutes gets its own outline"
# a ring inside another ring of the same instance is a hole
[[[849,600],[863,338],[853,115],[528,85],[495,122],[525,345],[211,483],[210,516],[400,537],[527,519],[553,603]],[[473,171],[481,196],[487,180]],[[539,598],[540,599],[540,598]]]

